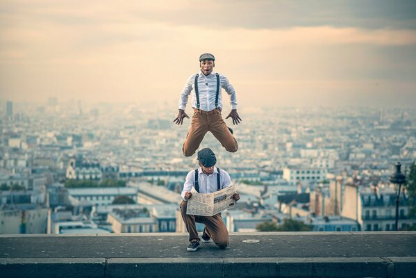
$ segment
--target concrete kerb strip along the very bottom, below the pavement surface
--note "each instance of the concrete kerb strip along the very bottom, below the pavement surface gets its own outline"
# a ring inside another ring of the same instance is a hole
[[[2,277],[412,277],[407,258],[14,258]]]

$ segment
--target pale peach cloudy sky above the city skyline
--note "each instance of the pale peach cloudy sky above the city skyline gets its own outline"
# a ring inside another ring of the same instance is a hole
[[[176,109],[205,52],[238,107],[416,104],[416,1],[0,3],[1,100]]]

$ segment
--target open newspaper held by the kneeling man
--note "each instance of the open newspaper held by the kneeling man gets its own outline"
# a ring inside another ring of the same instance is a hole
[[[215,193],[197,193],[194,187],[191,190],[192,197],[188,199],[186,214],[213,216],[228,208],[233,208],[235,199],[231,199],[235,191],[235,186],[228,186]]]

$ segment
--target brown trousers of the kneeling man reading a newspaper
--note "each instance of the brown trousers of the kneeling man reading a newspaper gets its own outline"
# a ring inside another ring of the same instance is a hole
[[[193,239],[199,240],[197,226],[195,222],[205,224],[205,232],[210,236],[213,242],[221,249],[225,249],[229,243],[228,231],[222,221],[221,213],[213,216],[189,215],[186,214],[187,201],[181,203],[181,213],[183,222],[189,232],[189,241]]]

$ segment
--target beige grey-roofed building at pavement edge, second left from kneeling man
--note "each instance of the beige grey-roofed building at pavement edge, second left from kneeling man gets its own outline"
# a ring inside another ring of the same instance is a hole
[[[107,222],[112,224],[113,232],[152,233],[158,231],[158,222],[147,209],[115,209],[108,214]]]

